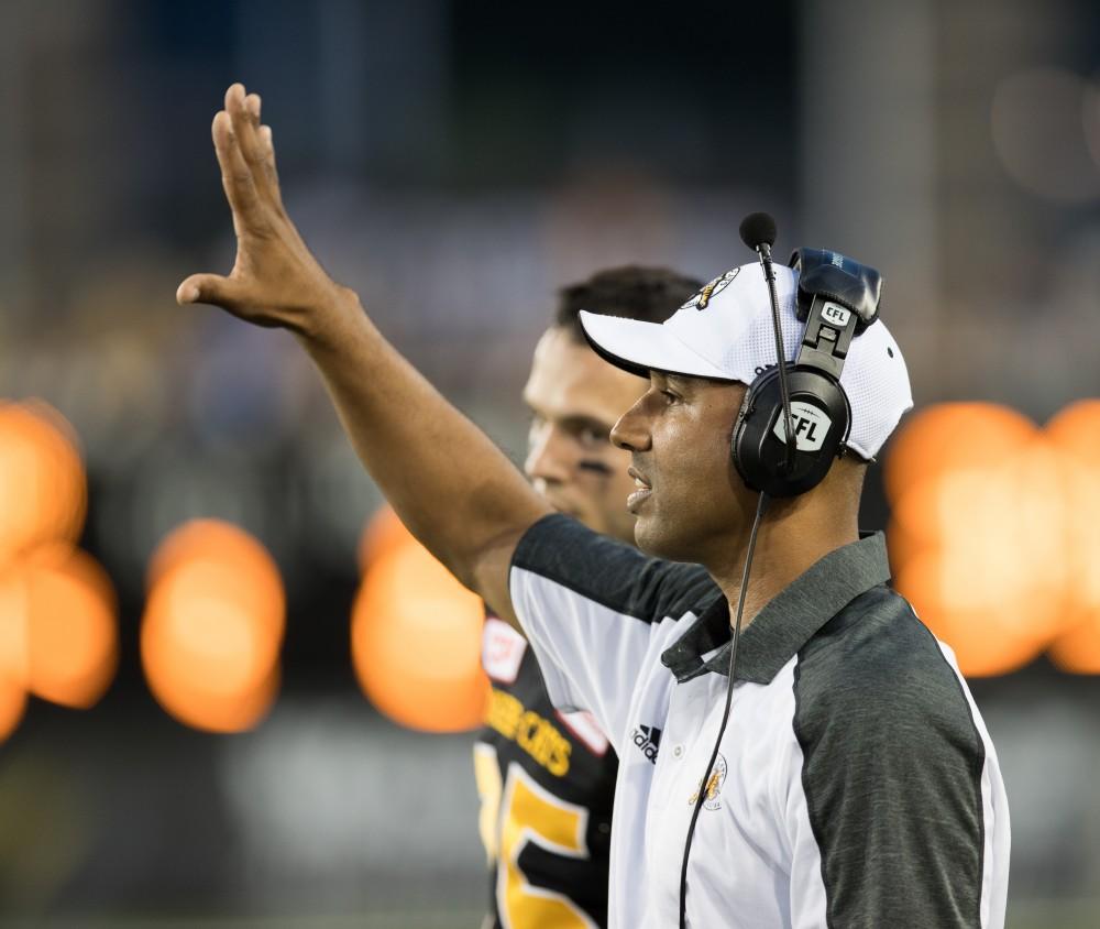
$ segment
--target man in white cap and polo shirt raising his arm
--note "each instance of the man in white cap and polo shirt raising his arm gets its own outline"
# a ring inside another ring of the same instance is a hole
[[[662,325],[582,316],[605,358],[649,375],[612,433],[634,462],[647,558],[552,513],[324,273],[283,209],[258,97],[233,85],[213,136],[237,263],[188,277],[178,299],[298,336],[413,534],[526,634],[556,704],[600,722],[620,756],[610,926],[1003,926],[996,753],[949,651],[887,586],[881,535],[857,529],[866,465],[911,405],[881,321],[846,343],[847,453],[761,522],[765,498],[730,456],[746,385],[777,361],[760,265],[715,278]],[[790,359],[799,278],[774,278]],[[835,312],[850,321],[853,308]],[[765,437],[793,456],[807,435],[785,412]],[[662,731],[656,764],[628,754],[642,726]]]

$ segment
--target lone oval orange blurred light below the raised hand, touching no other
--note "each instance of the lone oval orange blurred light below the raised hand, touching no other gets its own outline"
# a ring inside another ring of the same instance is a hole
[[[150,565],[142,665],[157,701],[211,732],[255,725],[278,692],[286,598],[267,550],[216,520],[185,524]]]

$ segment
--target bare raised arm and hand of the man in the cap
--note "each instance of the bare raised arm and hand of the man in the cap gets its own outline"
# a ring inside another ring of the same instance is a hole
[[[234,84],[213,120],[237,261],[193,274],[180,304],[209,303],[290,329],[309,352],[359,457],[409,531],[516,625],[508,565],[550,512],[504,453],[380,335],[359,297],[320,266],[283,207],[260,97]]]

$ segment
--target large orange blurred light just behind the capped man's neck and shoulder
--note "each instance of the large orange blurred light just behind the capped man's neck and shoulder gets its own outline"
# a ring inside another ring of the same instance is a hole
[[[1026,417],[992,404],[917,414],[884,473],[897,584],[968,676],[1034,659],[1066,620],[1066,465]]]

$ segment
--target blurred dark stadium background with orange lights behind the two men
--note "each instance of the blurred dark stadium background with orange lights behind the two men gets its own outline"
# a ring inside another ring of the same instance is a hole
[[[866,525],[998,745],[1009,925],[1100,925],[1098,66],[1090,0],[0,4],[0,918],[480,917],[476,603],[289,337],[173,300],[232,260],[241,79],[315,251],[517,461],[557,286],[707,278],[760,208],[882,269],[921,406]]]

